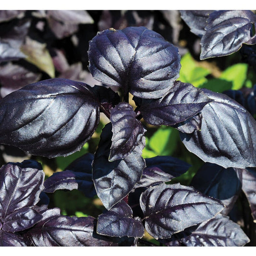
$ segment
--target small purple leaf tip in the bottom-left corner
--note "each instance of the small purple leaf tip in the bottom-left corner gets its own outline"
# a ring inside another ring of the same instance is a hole
[[[0,246],[27,246],[27,241],[19,234],[0,230]]]

